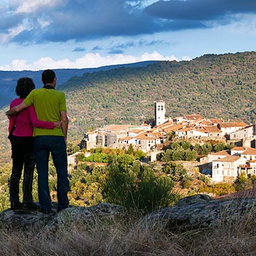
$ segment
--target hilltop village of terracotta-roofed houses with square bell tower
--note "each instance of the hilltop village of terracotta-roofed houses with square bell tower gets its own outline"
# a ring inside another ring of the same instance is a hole
[[[187,114],[174,119],[166,118],[164,101],[154,102],[154,119],[140,126],[108,125],[85,134],[81,148],[112,147],[140,149],[156,160],[170,135],[203,144],[209,141],[235,144],[230,151],[219,151],[200,159],[195,166],[213,182],[233,181],[240,174],[256,174],[255,124],[223,122],[222,119],[206,119],[200,114]]]

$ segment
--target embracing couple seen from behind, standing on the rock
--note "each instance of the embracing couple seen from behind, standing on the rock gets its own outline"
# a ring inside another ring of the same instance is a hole
[[[48,186],[50,153],[57,171],[58,212],[68,208],[68,116],[65,94],[55,90],[56,79],[53,70],[45,70],[42,73],[44,86],[35,89],[31,78],[20,78],[16,86],[19,98],[11,102],[10,110],[6,112],[9,117],[9,132],[13,130],[10,139],[13,159],[10,178],[11,209],[40,209],[43,213],[52,213]],[[33,202],[32,196],[35,164],[40,206]],[[23,166],[21,203],[18,192]]]

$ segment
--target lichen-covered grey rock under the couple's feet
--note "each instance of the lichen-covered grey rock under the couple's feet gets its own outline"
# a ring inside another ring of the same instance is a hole
[[[57,205],[53,203],[53,213],[50,214],[41,213],[38,210],[4,210],[0,213],[0,225],[9,229],[53,230],[60,225],[70,225],[75,221],[92,223],[98,219],[112,220],[123,213],[121,206],[110,203],[100,203],[92,207],[70,206],[57,213]]]

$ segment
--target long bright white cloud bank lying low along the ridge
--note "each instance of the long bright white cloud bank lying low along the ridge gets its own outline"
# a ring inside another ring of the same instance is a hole
[[[53,60],[50,57],[40,58],[33,63],[28,63],[26,60],[13,60],[10,65],[0,66],[0,70],[44,70],[47,68],[98,68],[105,65],[117,65],[127,63],[137,63],[146,60],[178,60],[174,55],[163,56],[154,51],[153,53],[144,53],[139,57],[133,55],[107,55],[102,56],[100,53],[87,53],[81,58],[74,61],[65,58],[63,60]]]

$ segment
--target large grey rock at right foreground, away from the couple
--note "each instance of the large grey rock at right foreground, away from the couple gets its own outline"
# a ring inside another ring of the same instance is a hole
[[[216,200],[206,195],[188,196],[174,206],[161,208],[143,218],[147,225],[159,225],[169,230],[216,228],[233,224],[242,218],[255,218],[256,198]]]

